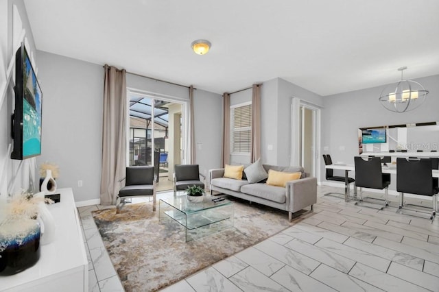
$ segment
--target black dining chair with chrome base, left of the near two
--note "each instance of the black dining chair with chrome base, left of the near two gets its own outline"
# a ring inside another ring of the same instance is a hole
[[[379,209],[388,206],[389,204],[389,191],[388,186],[390,184],[390,173],[383,173],[381,169],[381,158],[368,157],[366,160],[362,157],[355,156],[355,184],[360,188],[375,188],[384,190],[384,199],[378,199],[374,197],[363,197],[362,191],[360,191],[359,204],[361,202],[367,202],[365,199],[380,200],[384,202],[384,206]],[[368,202],[376,204],[373,202]],[[366,207],[375,208],[374,206],[364,205]]]

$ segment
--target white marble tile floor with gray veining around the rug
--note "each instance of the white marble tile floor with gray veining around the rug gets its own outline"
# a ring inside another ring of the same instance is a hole
[[[314,211],[295,219],[294,226],[163,291],[439,291],[439,218],[398,214],[392,195],[383,210],[324,196],[343,191],[318,186]],[[431,199],[405,200],[431,206]],[[101,208],[108,207],[78,208],[89,291],[123,291],[91,217]]]

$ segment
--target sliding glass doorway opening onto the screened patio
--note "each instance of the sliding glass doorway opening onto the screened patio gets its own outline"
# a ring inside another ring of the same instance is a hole
[[[184,104],[128,90],[128,165],[154,165],[156,191],[173,188],[174,165],[182,163]]]

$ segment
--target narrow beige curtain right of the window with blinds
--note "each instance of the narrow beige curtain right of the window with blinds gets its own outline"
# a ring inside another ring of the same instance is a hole
[[[252,162],[261,158],[261,84],[252,86]]]

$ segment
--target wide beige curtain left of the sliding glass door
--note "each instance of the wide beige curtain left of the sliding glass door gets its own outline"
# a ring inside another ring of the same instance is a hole
[[[101,204],[116,204],[126,169],[126,71],[104,66]]]

